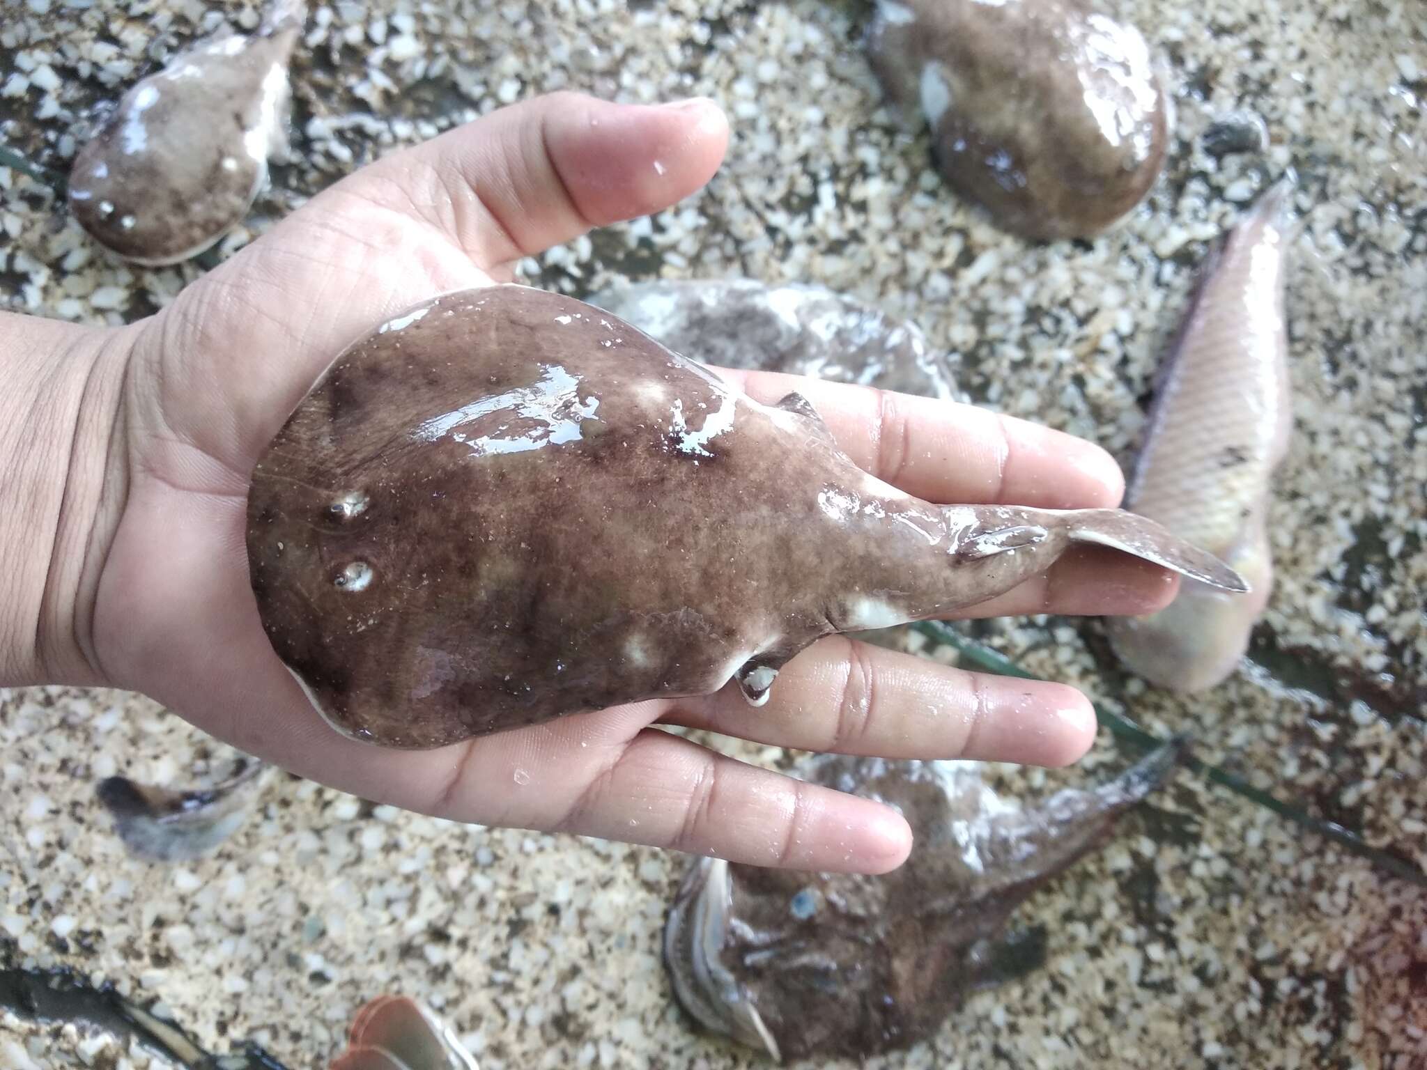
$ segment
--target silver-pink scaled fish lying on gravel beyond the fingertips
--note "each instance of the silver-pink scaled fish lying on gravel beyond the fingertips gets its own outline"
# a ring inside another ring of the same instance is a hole
[[[1293,190],[1291,178],[1273,185],[1203,267],[1126,495],[1126,508],[1213,551],[1251,588],[1224,598],[1187,581],[1159,613],[1107,622],[1120,661],[1180,692],[1234,671],[1273,588],[1270,484],[1293,422],[1283,311]]]

